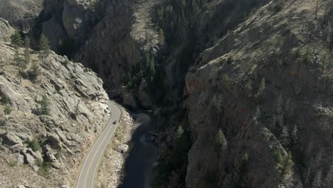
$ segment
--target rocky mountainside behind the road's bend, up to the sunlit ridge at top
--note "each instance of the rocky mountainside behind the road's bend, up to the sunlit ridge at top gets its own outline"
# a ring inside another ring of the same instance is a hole
[[[150,16],[157,2],[44,1],[35,31],[40,28],[58,53],[93,68],[105,80],[112,96],[125,99],[122,91],[129,71],[144,65],[147,54],[156,56],[164,44]],[[141,92],[149,95],[147,90]],[[130,95],[135,94],[130,91]],[[141,101],[142,97],[134,97],[144,107],[152,107],[147,98]]]

